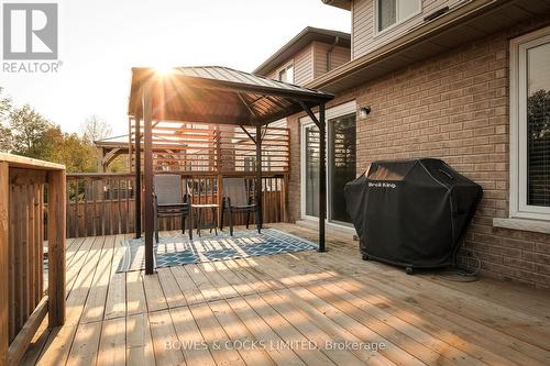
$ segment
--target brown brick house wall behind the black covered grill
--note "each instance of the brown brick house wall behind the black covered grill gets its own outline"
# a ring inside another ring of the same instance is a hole
[[[494,228],[493,218],[508,217],[508,40],[549,20],[411,65],[331,103],[356,99],[372,108],[358,120],[358,174],[374,159],[439,157],[482,185],[465,247],[482,259],[485,274],[538,287],[550,287],[550,235]],[[299,117],[288,120],[290,220],[300,217]]]

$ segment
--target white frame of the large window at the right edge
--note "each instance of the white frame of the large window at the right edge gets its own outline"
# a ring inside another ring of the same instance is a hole
[[[546,43],[550,26],[510,41],[510,218],[550,221],[550,207],[527,204],[527,51]]]

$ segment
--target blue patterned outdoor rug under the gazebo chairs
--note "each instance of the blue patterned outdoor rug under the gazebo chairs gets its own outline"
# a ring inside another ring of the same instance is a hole
[[[124,256],[117,271],[131,271],[145,268],[144,240],[132,239],[123,242]],[[270,255],[317,248],[317,244],[301,237],[284,233],[276,229],[263,229],[258,234],[254,229],[235,230],[234,235],[219,232],[219,235],[187,234],[161,237],[155,244],[156,267],[174,267],[191,263],[244,258],[256,255]]]

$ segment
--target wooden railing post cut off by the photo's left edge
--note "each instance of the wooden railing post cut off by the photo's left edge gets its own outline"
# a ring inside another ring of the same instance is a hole
[[[9,330],[9,164],[0,162],[0,366],[8,365]]]

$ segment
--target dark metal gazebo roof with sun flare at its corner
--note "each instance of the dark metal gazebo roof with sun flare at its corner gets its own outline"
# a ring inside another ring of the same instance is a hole
[[[333,95],[221,66],[132,69],[129,115],[151,100],[152,120],[263,125],[319,106]]]

